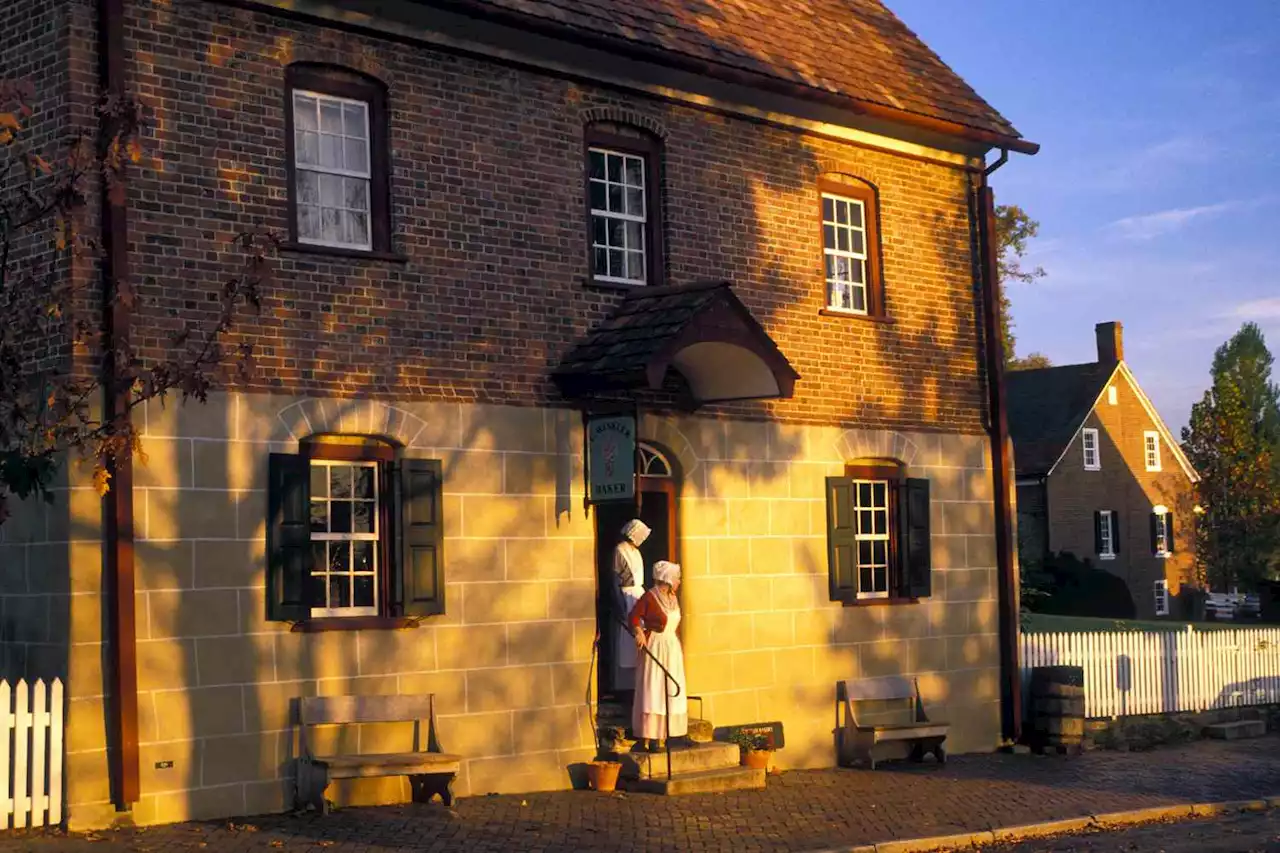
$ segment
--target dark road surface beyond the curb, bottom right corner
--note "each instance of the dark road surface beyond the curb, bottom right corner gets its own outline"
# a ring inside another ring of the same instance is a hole
[[[984,847],[982,853],[1280,853],[1280,813],[1148,824],[1111,833]]]

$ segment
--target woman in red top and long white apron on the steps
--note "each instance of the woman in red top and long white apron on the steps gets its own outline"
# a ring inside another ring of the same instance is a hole
[[[685,649],[676,629],[680,628],[680,566],[662,560],[653,565],[653,588],[644,594],[631,611],[631,626],[636,629],[636,697],[631,706],[631,726],[635,736],[650,752],[663,748],[663,739],[684,738],[689,734],[689,695],[685,688]],[[662,663],[675,679],[667,680]]]

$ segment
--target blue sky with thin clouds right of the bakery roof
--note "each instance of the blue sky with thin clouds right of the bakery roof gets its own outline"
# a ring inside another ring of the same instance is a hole
[[[886,0],[1039,142],[992,183],[1041,222],[1018,351],[1125,356],[1175,432],[1244,320],[1280,356],[1280,1]]]

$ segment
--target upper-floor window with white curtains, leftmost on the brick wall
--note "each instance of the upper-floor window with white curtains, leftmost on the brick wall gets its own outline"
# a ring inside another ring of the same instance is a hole
[[[387,92],[355,72],[287,72],[289,228],[294,243],[390,248]]]

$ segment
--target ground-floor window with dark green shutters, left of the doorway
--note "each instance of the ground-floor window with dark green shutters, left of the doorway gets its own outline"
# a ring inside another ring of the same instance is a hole
[[[444,612],[442,469],[374,438],[324,435],[273,453],[268,619]]]

